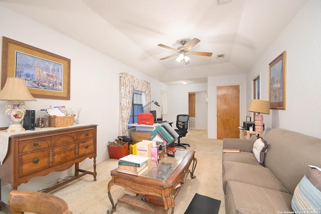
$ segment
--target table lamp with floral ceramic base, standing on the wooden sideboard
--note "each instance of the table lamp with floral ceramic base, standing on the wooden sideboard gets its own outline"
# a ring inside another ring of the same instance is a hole
[[[0,100],[8,101],[6,115],[10,126],[7,132],[25,131],[21,125],[26,114],[24,101],[36,101],[26,86],[26,80],[8,77],[5,87],[0,91]]]

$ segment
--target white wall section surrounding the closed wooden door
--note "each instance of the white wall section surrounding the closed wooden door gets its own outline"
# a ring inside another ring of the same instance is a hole
[[[217,139],[217,96],[218,86],[240,86],[240,123],[246,119],[246,75],[230,75],[208,78],[208,138]],[[241,125],[241,124],[240,124]],[[243,125],[243,124],[242,124]]]

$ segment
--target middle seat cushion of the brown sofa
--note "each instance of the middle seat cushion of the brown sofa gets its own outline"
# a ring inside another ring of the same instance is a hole
[[[223,175],[223,190],[226,193],[227,181],[233,180],[277,191],[288,192],[275,178],[270,169],[246,163],[223,161],[225,174]]]

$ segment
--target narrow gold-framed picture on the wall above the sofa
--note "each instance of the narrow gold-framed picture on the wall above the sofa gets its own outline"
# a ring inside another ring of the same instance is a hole
[[[286,109],[286,51],[269,64],[269,101],[271,109]]]

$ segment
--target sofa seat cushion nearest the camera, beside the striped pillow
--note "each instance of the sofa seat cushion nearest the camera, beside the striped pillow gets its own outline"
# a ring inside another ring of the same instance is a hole
[[[229,214],[292,213],[292,195],[269,188],[228,181],[226,198],[226,213]]]

